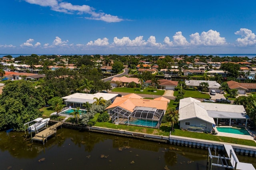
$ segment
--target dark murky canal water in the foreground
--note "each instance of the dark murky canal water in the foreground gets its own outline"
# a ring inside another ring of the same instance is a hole
[[[206,170],[207,154],[202,149],[67,128],[58,129],[44,145],[32,143],[24,132],[0,132],[1,170]],[[256,158],[238,158],[256,165]]]

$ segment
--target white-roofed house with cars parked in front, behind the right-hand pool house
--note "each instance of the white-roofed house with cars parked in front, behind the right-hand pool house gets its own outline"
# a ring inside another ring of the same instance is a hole
[[[217,83],[216,81],[209,81],[209,80],[186,80],[185,83],[187,85],[188,88],[198,88],[200,89],[200,83],[202,82],[206,82],[208,83],[209,87],[208,87],[208,90],[209,92],[211,90],[215,90],[217,93],[220,93],[221,92],[221,89],[220,88],[220,84]]]

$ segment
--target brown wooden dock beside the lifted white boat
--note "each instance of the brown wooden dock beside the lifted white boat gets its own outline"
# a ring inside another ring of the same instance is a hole
[[[43,131],[37,133],[33,138],[32,140],[39,140],[39,141],[42,141],[43,144],[44,144],[44,141],[46,140],[47,141],[47,138],[52,136],[52,134],[56,134],[57,130],[56,128],[61,126],[63,124],[62,121],[52,125],[51,127],[48,127],[46,129],[44,129]]]

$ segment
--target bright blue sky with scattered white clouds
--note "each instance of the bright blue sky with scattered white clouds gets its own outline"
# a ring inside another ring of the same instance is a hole
[[[255,0],[1,0],[0,53],[256,53],[255,6]]]

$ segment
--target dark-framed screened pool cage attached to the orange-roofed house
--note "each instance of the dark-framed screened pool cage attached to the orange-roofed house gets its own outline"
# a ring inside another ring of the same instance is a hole
[[[135,107],[133,112],[116,107],[112,110],[112,123],[159,128],[164,112],[151,107]]]

